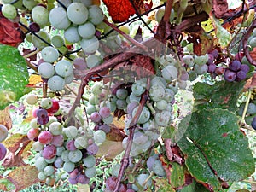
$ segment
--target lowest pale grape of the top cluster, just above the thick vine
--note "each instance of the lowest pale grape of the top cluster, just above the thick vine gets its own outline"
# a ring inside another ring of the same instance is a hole
[[[93,54],[99,48],[100,43],[96,36],[93,36],[89,39],[83,38],[80,42],[80,45],[84,50],[84,53]]]

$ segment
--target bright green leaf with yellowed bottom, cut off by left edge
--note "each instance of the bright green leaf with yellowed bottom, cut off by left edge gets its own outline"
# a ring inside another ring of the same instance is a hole
[[[0,44],[0,110],[20,99],[26,92],[26,60],[17,48]]]

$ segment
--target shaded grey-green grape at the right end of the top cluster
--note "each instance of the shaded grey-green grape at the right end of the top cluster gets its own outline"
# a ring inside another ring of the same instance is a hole
[[[88,20],[90,20],[94,25],[98,25],[104,20],[102,9],[97,5],[90,6],[88,16]]]

